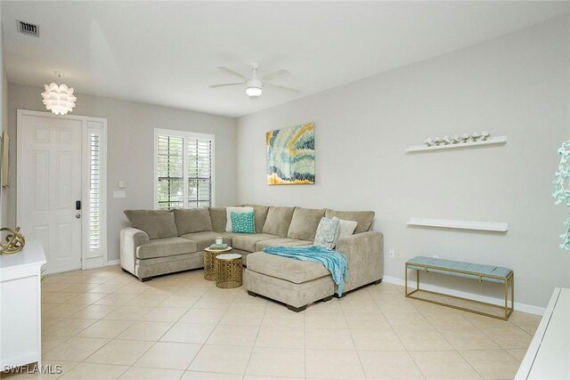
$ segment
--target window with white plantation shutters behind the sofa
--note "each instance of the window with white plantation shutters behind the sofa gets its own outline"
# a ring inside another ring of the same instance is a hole
[[[214,136],[156,129],[155,144],[157,208],[213,206]]]

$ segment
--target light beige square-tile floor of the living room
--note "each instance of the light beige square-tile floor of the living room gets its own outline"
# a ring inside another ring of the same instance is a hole
[[[72,271],[42,290],[44,364],[63,369],[50,379],[512,378],[540,322],[405,299],[390,284],[295,313],[201,270],[145,283],[118,267]]]

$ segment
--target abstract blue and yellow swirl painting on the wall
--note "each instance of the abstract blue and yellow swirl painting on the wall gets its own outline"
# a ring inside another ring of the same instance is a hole
[[[267,184],[314,183],[314,124],[265,133]]]

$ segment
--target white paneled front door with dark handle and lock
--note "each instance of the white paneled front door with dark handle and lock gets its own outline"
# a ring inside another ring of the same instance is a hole
[[[27,240],[42,241],[48,273],[81,268],[83,129],[65,117],[18,119],[17,223]]]

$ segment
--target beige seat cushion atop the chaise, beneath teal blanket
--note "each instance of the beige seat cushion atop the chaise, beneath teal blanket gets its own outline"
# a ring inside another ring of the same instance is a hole
[[[295,260],[264,252],[248,255],[248,270],[277,279],[285,279],[295,284],[330,276],[330,271],[322,263]]]

